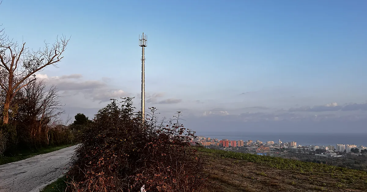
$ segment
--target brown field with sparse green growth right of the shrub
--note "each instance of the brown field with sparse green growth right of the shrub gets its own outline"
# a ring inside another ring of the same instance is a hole
[[[365,191],[365,171],[325,164],[199,148],[206,156],[206,191]]]

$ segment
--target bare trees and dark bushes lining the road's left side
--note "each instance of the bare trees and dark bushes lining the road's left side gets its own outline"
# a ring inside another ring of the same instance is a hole
[[[36,79],[35,73],[62,59],[69,39],[61,37],[37,51],[18,44],[0,30],[0,158],[22,159],[20,154],[72,144],[74,133],[58,127],[63,113],[55,85]]]

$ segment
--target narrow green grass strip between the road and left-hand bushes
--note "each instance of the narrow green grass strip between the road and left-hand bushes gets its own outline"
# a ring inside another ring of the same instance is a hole
[[[41,148],[37,151],[23,152],[22,154],[12,156],[12,157],[7,157],[7,156],[0,157],[0,165],[17,162],[23,159],[28,159],[29,157],[33,157],[33,156],[40,155],[40,154],[50,153],[50,152],[57,151],[57,150],[60,150],[60,149],[63,149],[63,148],[66,148],[72,145],[73,144],[61,145],[61,146],[55,146],[55,147],[49,147],[49,148]]]

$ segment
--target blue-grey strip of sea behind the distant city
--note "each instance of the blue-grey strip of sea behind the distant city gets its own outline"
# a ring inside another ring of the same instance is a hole
[[[240,133],[240,132],[210,132],[197,131],[197,136],[217,138],[219,140],[252,140],[252,141],[274,141],[297,142],[298,145],[328,146],[336,144],[363,145],[367,146],[367,133]]]

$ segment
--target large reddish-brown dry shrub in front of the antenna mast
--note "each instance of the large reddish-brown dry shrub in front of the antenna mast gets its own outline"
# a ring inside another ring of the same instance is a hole
[[[68,191],[201,191],[203,162],[190,147],[195,132],[176,119],[158,122],[155,108],[143,123],[132,98],[112,99],[80,134]]]

